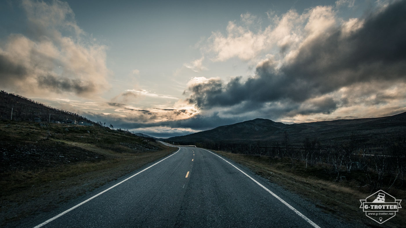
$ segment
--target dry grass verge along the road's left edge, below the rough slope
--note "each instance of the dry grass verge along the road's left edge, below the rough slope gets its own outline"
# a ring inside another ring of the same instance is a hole
[[[122,154],[95,163],[64,165],[48,170],[6,173],[1,185],[2,226],[15,226],[35,213],[52,211],[66,202],[91,192],[110,181],[176,151],[168,147],[158,152]]]

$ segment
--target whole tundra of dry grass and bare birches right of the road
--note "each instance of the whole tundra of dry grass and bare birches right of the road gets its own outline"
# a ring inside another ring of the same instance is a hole
[[[301,194],[328,213],[377,226],[359,209],[360,199],[384,190],[397,199],[406,198],[406,132],[376,144],[350,134],[321,142],[305,137],[291,141],[283,132],[281,141],[248,143],[197,143],[244,164],[257,174]],[[404,203],[404,202],[402,202]],[[404,224],[404,209],[385,226]]]

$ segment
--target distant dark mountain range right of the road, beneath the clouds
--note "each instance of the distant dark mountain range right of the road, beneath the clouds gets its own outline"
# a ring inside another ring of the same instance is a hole
[[[399,134],[405,134],[404,132],[406,132],[406,112],[387,117],[337,119],[301,124],[253,119],[185,136],[175,136],[165,141],[182,144],[280,142],[286,136],[291,143],[301,143],[306,138],[328,143],[346,141],[350,136],[356,136],[360,142],[376,144],[377,141],[384,143]]]

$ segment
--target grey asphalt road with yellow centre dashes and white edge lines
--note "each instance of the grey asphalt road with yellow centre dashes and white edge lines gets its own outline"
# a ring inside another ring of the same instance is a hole
[[[180,147],[42,227],[340,226],[310,202],[225,160],[204,149]]]

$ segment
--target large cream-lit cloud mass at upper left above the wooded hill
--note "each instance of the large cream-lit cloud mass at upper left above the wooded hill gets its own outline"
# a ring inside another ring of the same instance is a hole
[[[3,74],[5,87],[28,94],[79,96],[94,96],[108,88],[106,46],[94,43],[79,28],[66,2],[24,0],[22,7],[30,38],[11,34],[0,46],[2,60],[21,69]]]

